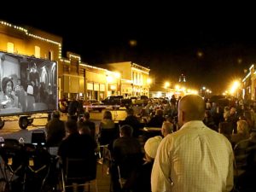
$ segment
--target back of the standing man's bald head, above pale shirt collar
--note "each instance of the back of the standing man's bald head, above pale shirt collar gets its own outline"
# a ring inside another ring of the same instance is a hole
[[[203,120],[205,102],[201,96],[183,96],[178,103],[178,124],[181,126],[191,120]]]

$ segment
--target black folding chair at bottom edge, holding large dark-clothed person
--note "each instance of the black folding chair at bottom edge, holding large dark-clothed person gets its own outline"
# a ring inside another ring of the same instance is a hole
[[[67,158],[61,170],[61,177],[64,192],[69,187],[75,189],[78,186],[84,186],[84,188],[88,186],[90,191],[91,181],[95,181],[95,189],[97,192],[96,158],[95,160]]]

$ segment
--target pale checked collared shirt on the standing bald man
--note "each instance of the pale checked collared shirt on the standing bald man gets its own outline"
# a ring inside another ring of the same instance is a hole
[[[220,192],[233,187],[230,142],[201,121],[189,121],[160,143],[152,192]]]

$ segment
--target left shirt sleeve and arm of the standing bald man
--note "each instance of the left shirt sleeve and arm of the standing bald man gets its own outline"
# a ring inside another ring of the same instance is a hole
[[[154,166],[151,173],[152,192],[163,192],[172,190],[171,180],[171,157],[172,137],[166,137],[161,141],[157,149]]]

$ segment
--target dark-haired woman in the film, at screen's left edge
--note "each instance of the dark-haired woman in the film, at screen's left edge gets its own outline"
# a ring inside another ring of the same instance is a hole
[[[7,77],[2,79],[3,94],[0,96],[0,108],[21,108],[18,97],[13,95],[14,83]]]

